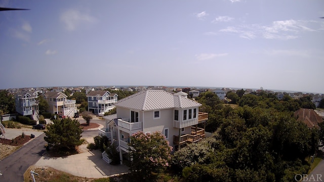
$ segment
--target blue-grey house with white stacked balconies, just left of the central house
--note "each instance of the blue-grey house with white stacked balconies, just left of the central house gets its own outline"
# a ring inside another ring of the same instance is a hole
[[[105,112],[110,111],[117,103],[118,95],[108,91],[90,91],[87,94],[88,111],[103,116]]]

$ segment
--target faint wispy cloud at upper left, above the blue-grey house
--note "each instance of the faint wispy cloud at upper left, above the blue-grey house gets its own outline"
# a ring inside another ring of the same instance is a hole
[[[74,31],[80,25],[89,25],[97,22],[97,19],[91,15],[72,9],[62,13],[60,19],[68,31]]]

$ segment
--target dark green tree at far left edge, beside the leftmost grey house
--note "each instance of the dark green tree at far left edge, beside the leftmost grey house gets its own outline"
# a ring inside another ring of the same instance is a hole
[[[16,112],[15,98],[7,90],[0,91],[0,110],[2,110],[4,114],[13,114]]]

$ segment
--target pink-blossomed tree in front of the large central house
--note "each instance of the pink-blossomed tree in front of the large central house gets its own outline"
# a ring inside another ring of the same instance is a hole
[[[169,166],[172,147],[159,133],[137,132],[130,137],[130,171],[135,180],[152,181],[154,173],[163,172]]]

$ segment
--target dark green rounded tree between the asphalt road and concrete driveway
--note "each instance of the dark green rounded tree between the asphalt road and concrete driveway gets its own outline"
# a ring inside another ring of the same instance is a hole
[[[44,140],[57,150],[75,150],[76,146],[83,143],[81,140],[82,130],[80,123],[76,119],[64,118],[53,120],[54,124],[47,126],[44,131]]]

